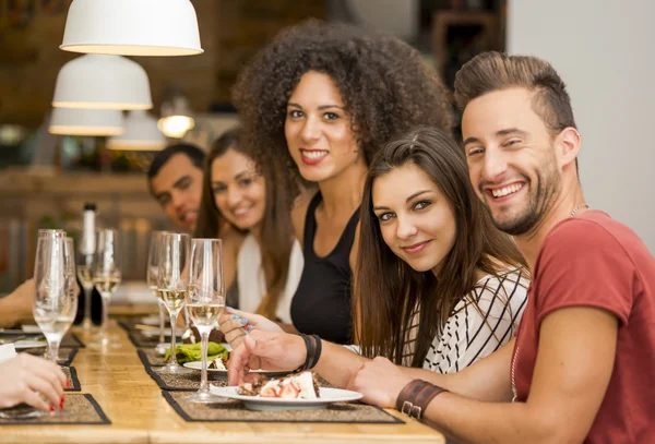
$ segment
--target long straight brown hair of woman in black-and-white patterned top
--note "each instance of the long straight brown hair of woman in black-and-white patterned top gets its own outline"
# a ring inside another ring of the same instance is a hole
[[[384,243],[373,213],[374,181],[409,164],[433,180],[455,214],[455,242],[443,259],[439,278],[431,271],[414,271],[396,256]],[[414,129],[378,153],[367,175],[360,217],[353,313],[359,325],[357,341],[367,357],[384,356],[397,364],[422,367],[434,336],[441,334],[457,303],[468,298],[479,272],[498,275],[508,267],[525,266],[514,241],[493,226],[476,195],[463,149],[438,129]],[[405,361],[407,335],[417,313],[416,343]]]

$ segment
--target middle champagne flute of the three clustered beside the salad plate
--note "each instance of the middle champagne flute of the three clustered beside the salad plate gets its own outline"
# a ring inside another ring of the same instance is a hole
[[[189,235],[167,232],[159,244],[159,268],[157,295],[170,315],[170,360],[157,370],[164,374],[186,374],[189,369],[178,365],[176,358],[176,320],[184,307],[184,295],[189,285]]]

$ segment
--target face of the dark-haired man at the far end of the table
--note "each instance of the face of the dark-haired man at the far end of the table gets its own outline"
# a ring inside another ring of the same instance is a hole
[[[193,231],[202,197],[202,170],[186,154],[178,153],[151,179],[151,187],[168,219],[176,227]]]

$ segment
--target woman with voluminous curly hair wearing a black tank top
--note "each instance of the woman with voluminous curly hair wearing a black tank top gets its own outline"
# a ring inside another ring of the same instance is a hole
[[[277,211],[291,212],[305,256],[291,302],[294,326],[352,344],[352,286],[368,165],[390,137],[412,127],[450,131],[448,92],[401,40],[308,21],[254,57],[234,98],[253,157],[264,175],[283,179],[289,193],[288,206]],[[318,192],[300,194],[302,182],[315,182]],[[242,334],[224,333],[234,345]]]

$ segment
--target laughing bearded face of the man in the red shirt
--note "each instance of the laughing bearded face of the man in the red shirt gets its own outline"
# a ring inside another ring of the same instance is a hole
[[[515,87],[471,100],[462,118],[471,182],[496,226],[531,231],[561,189],[553,137],[533,109],[533,93]]]

